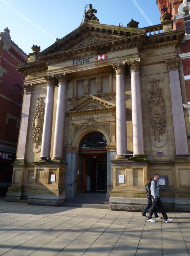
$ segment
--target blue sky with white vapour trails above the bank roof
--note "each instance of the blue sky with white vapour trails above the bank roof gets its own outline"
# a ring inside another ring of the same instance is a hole
[[[86,1],[86,0],[85,0]],[[88,2],[82,0],[0,0],[0,31],[9,27],[11,39],[27,54],[33,44],[46,49],[56,37],[76,29]],[[100,23],[124,26],[131,18],[139,28],[160,23],[156,0],[96,0],[90,2]]]

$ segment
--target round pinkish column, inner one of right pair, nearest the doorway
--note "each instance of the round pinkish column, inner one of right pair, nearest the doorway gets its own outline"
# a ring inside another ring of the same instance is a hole
[[[112,64],[116,74],[116,159],[127,154],[127,129],[125,107],[125,62]]]

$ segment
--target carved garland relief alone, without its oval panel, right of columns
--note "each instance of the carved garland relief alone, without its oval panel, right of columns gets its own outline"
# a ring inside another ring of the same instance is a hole
[[[166,133],[166,112],[164,106],[164,97],[159,79],[149,81],[151,90],[149,90],[149,120],[152,128],[154,141],[161,141],[162,135]]]

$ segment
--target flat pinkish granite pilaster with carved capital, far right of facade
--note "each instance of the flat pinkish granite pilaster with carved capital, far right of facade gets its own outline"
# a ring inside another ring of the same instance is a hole
[[[172,116],[174,124],[175,154],[187,155],[187,133],[181,97],[180,78],[178,71],[179,58],[166,60],[169,72],[170,93],[172,102]]]

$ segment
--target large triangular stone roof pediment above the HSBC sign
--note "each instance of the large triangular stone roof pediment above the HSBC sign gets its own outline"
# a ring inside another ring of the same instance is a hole
[[[145,30],[143,29],[133,28],[133,30],[131,30],[131,28],[127,27],[85,22],[81,23],[76,30],[73,30],[63,38],[56,40],[56,42],[50,47],[41,51],[38,54],[38,57],[42,58],[43,56],[45,57],[46,55],[53,55],[54,53],[62,54],[62,51],[84,48],[90,45],[98,45],[102,42],[106,43],[106,41],[112,45],[111,42],[113,40],[123,39],[125,37],[128,38],[131,35],[144,35],[144,33]]]

